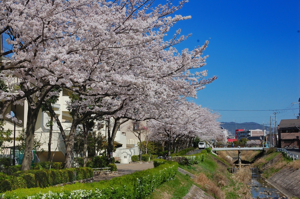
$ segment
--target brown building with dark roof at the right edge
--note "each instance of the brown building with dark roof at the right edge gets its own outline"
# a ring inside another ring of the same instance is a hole
[[[299,146],[299,119],[282,119],[278,125],[278,146]]]

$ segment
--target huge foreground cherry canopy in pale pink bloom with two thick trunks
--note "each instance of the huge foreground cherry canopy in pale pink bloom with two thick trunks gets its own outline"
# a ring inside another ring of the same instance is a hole
[[[173,46],[190,35],[180,36],[179,29],[172,39],[163,40],[176,22],[190,18],[171,16],[186,2],[156,7],[153,0],[0,2],[0,34],[7,35],[12,46],[0,52],[8,59],[0,73],[8,85],[7,91],[0,91],[0,117],[12,103],[26,98],[29,105],[22,170],[30,169],[38,112],[52,89],[64,87],[84,99],[74,105],[80,105],[73,116],[74,130],[93,114],[115,114],[132,98],[136,102],[142,96],[157,104],[196,97],[197,90],[217,78],[205,79],[206,70],[189,71],[205,65],[202,53],[208,41],[179,53]],[[101,99],[97,105],[95,99]],[[66,167],[73,161],[72,133]]]

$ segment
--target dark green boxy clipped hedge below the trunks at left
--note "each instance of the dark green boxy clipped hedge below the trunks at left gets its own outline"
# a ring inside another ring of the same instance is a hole
[[[0,192],[10,191],[19,188],[48,187],[61,183],[93,177],[91,168],[70,168],[61,170],[30,170],[18,171],[12,175],[0,174]]]

